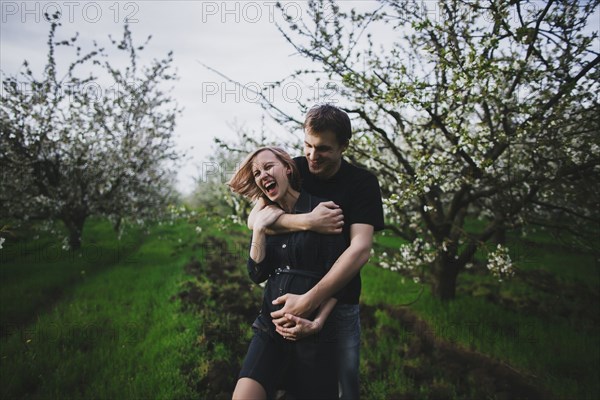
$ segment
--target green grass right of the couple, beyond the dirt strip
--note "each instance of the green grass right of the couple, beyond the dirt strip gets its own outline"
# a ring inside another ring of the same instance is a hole
[[[519,236],[509,236],[508,246],[519,270],[541,270],[551,285],[518,277],[500,283],[489,274],[463,273],[457,298],[445,303],[433,298],[429,287],[367,265],[362,300],[370,305],[410,303],[436,337],[511,365],[557,398],[597,398],[599,270],[594,256],[556,246],[543,232],[535,236],[536,241],[528,238],[520,247]],[[401,243],[389,238],[377,242],[385,247]],[[490,296],[503,302],[490,301]],[[387,354],[394,347],[383,343],[377,351]]]

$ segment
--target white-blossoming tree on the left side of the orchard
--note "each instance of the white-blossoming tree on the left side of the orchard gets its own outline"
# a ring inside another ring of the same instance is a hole
[[[155,215],[172,197],[172,132],[179,110],[164,91],[175,79],[172,54],[140,66],[125,26],[112,40],[127,61],[114,66],[94,43],[84,53],[77,37],[57,40],[51,23],[43,76],[27,62],[3,77],[0,104],[2,219],[59,219],[78,248],[87,217],[104,215],[118,228],[125,217]],[[76,52],[66,63],[62,48]],[[59,65],[67,65],[60,71]],[[84,74],[86,74],[84,76]],[[83,76],[83,77],[82,77]]]

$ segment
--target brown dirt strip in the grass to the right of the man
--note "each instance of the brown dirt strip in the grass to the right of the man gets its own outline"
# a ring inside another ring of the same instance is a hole
[[[384,311],[401,322],[410,335],[386,326],[375,329],[376,311]],[[509,365],[433,335],[431,328],[407,308],[388,305],[361,305],[363,346],[376,346],[381,337],[377,332],[398,337],[398,352],[405,363],[403,373],[412,379],[413,386],[401,393],[389,393],[393,399],[423,398],[421,387],[429,388],[428,399],[551,399],[552,396]],[[402,339],[400,339],[402,338]],[[403,343],[404,341],[404,343]],[[389,368],[385,362],[380,368]],[[377,368],[368,368],[367,376]]]

